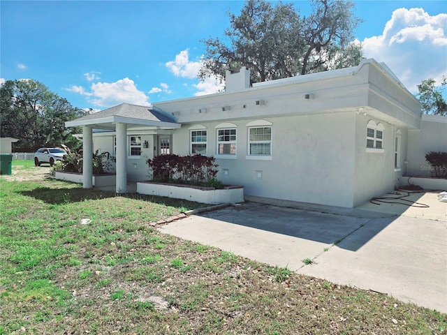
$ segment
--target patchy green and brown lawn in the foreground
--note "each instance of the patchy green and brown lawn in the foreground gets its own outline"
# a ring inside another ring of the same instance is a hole
[[[446,314],[149,225],[199,206],[0,177],[0,334],[446,334]]]

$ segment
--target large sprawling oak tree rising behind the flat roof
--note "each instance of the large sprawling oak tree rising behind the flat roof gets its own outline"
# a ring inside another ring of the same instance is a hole
[[[353,43],[360,19],[353,3],[313,0],[312,14],[300,17],[292,3],[248,0],[240,15],[228,13],[223,38],[208,38],[199,78],[221,80],[226,70],[247,66],[252,82],[356,66],[361,45]]]

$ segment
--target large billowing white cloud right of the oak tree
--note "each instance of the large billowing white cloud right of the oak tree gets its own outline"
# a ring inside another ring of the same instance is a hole
[[[430,16],[423,8],[399,8],[380,36],[362,41],[365,57],[383,61],[409,91],[421,80],[441,82],[447,75],[447,14]]]

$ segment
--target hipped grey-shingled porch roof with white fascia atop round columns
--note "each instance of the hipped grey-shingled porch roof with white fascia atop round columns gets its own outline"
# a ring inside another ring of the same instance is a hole
[[[149,126],[162,129],[180,128],[175,119],[155,107],[122,103],[107,110],[85,115],[73,121],[67,121],[66,127],[89,126],[95,129],[113,129],[115,124],[126,124],[127,128]]]

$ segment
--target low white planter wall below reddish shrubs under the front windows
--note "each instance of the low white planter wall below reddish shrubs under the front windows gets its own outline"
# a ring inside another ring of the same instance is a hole
[[[214,189],[140,181],[137,183],[137,193],[190,200],[203,204],[228,204],[244,201],[244,188],[242,186],[226,186],[222,189]]]

